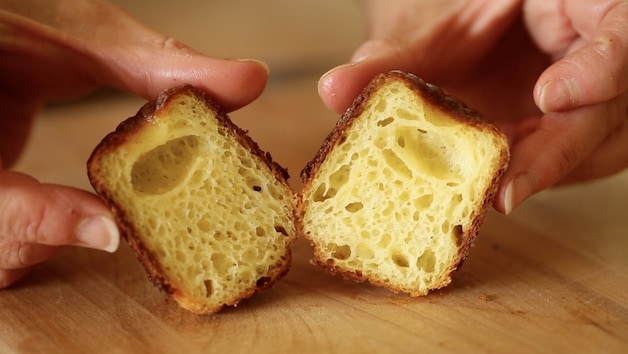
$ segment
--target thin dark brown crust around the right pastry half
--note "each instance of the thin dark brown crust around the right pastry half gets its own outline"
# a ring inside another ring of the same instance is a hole
[[[305,212],[303,195],[310,188],[312,179],[318,172],[323,161],[325,161],[327,155],[332,151],[332,149],[334,149],[336,145],[343,141],[345,132],[351,127],[351,125],[353,125],[354,121],[358,117],[360,117],[365,107],[367,106],[369,98],[372,97],[373,93],[389,81],[405,83],[407,87],[410,88],[420,98],[420,100],[427,102],[434,108],[440,109],[449,117],[454,118],[461,123],[469,126],[492,131],[495,135],[502,136],[504,141],[506,140],[503,133],[495,124],[488,121],[481,113],[468,107],[465,103],[463,103],[456,97],[446,94],[439,87],[433,84],[429,84],[413,74],[402,72],[399,70],[379,74],[373,80],[371,80],[371,82],[364,88],[360,95],[356,97],[356,99],[353,101],[353,104],[345,111],[345,113],[336,123],[334,129],[329,133],[314,158],[301,171],[303,189],[298,198],[297,209],[299,210],[299,215],[303,215]],[[485,194],[485,198],[481,203],[481,207],[476,209],[476,213],[472,219],[473,221],[471,223],[471,227],[468,230],[465,230],[465,232],[460,236],[458,257],[455,262],[452,263],[449,271],[446,272],[445,278],[443,278],[443,283],[436,288],[441,288],[448,285],[450,282],[450,274],[455,271],[467,258],[469,249],[473,246],[473,243],[478,236],[480,226],[484,221],[486,213],[493,203],[499,181],[506,171],[509,158],[510,155],[508,149],[504,149],[502,151],[502,155],[499,158],[499,169],[493,176],[490,188]],[[299,222],[302,223],[302,220],[299,220]],[[363,282],[368,280],[374,285],[384,286],[393,292],[406,292],[412,296],[423,295],[422,293],[418,293],[416,289],[396,288],[391,284],[373,279],[360,271],[347,270],[343,267],[337,266],[333,261],[327,260],[326,257],[323,256],[321,250],[318,249],[316,243],[314,242],[315,235],[306,234],[304,236],[310,239],[310,242],[314,247],[314,259],[312,259],[312,263],[322,267],[331,274],[339,274],[346,279],[352,279],[357,282]]]

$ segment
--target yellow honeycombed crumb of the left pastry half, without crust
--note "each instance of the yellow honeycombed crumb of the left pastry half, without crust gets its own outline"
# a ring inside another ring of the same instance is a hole
[[[177,96],[162,122],[102,162],[107,189],[167,277],[208,308],[263,282],[296,235],[292,191],[212,116]]]

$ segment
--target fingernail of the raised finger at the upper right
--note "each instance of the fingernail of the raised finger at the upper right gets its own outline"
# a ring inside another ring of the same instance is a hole
[[[539,108],[544,113],[569,109],[580,101],[580,89],[573,79],[546,83],[539,93]]]

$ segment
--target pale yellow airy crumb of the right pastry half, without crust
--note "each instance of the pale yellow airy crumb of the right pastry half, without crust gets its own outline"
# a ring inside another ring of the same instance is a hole
[[[385,85],[304,191],[305,232],[326,263],[424,294],[448,282],[501,146]]]

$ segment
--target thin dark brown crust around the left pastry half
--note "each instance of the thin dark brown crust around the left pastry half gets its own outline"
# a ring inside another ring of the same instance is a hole
[[[213,313],[219,311],[223,306],[213,309],[208,309],[202,306],[195,307],[193,306],[194,303],[190,302],[189,299],[184,299],[185,295],[182,294],[179,289],[177,289],[177,287],[167,279],[164,275],[165,273],[163,269],[159,265],[159,262],[156,260],[155,255],[153,255],[142,242],[142,238],[137,229],[134,228],[132,220],[129,220],[127,215],[122,211],[123,209],[121,206],[113,199],[111,192],[100,181],[100,159],[107,155],[110,151],[124,145],[128,139],[132,138],[138,131],[141,131],[147,125],[155,124],[160,112],[166,109],[173,99],[177,96],[186,94],[193,95],[203,102],[214,113],[215,117],[219,121],[219,124],[225,127],[242,146],[247,148],[252,154],[259,157],[260,160],[262,160],[271,169],[277,180],[292,191],[288,184],[288,171],[274,162],[269,153],[263,152],[257,143],[251,139],[248,133],[236,126],[229,119],[228,115],[222,110],[222,108],[214,103],[204,91],[201,91],[191,85],[174,87],[160,93],[155,100],[149,101],[142,106],[135,116],[121,122],[116,127],[115,131],[105,136],[92,152],[87,161],[87,175],[96,193],[101,196],[111,209],[116,218],[122,236],[146,269],[148,277],[152,283],[164,292],[172,295],[175,299],[180,299],[181,301],[186,302],[189,306],[188,309],[193,312]],[[294,212],[296,213],[296,208]],[[286,255],[283,257],[282,261],[276,264],[273,269],[269,270],[267,277],[265,277],[263,281],[258,281],[258,284],[255,287],[252,287],[242,293],[238,299],[235,299],[235,301],[225,303],[224,305],[236,305],[240,300],[250,297],[258,291],[270,288],[279,278],[288,272],[290,264],[291,252],[290,245],[288,245]]]

